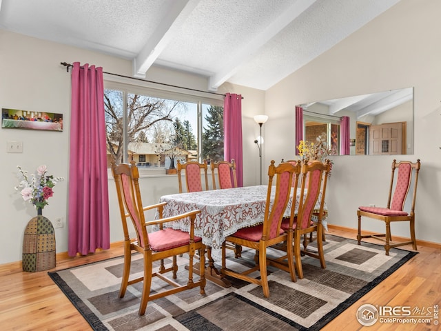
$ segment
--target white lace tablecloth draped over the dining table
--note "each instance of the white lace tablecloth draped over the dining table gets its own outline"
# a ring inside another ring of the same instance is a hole
[[[245,188],[227,188],[202,192],[168,194],[161,197],[160,202],[167,202],[163,217],[171,217],[191,210],[201,210],[196,216],[194,234],[202,237],[203,243],[212,248],[212,257],[220,259],[221,246],[225,237],[240,228],[263,222],[267,199],[267,185],[247,186]],[[274,196],[274,190],[271,195]],[[300,199],[300,192],[297,200]],[[292,199],[285,210],[289,217]],[[298,205],[298,201],[296,203]],[[316,204],[320,208],[320,197]],[[325,210],[327,210],[325,205]],[[326,213],[325,213],[326,214]],[[156,212],[156,219],[159,215]],[[324,217],[325,218],[325,217]],[[326,229],[326,224],[323,222]],[[175,230],[189,231],[189,219],[170,223]]]

